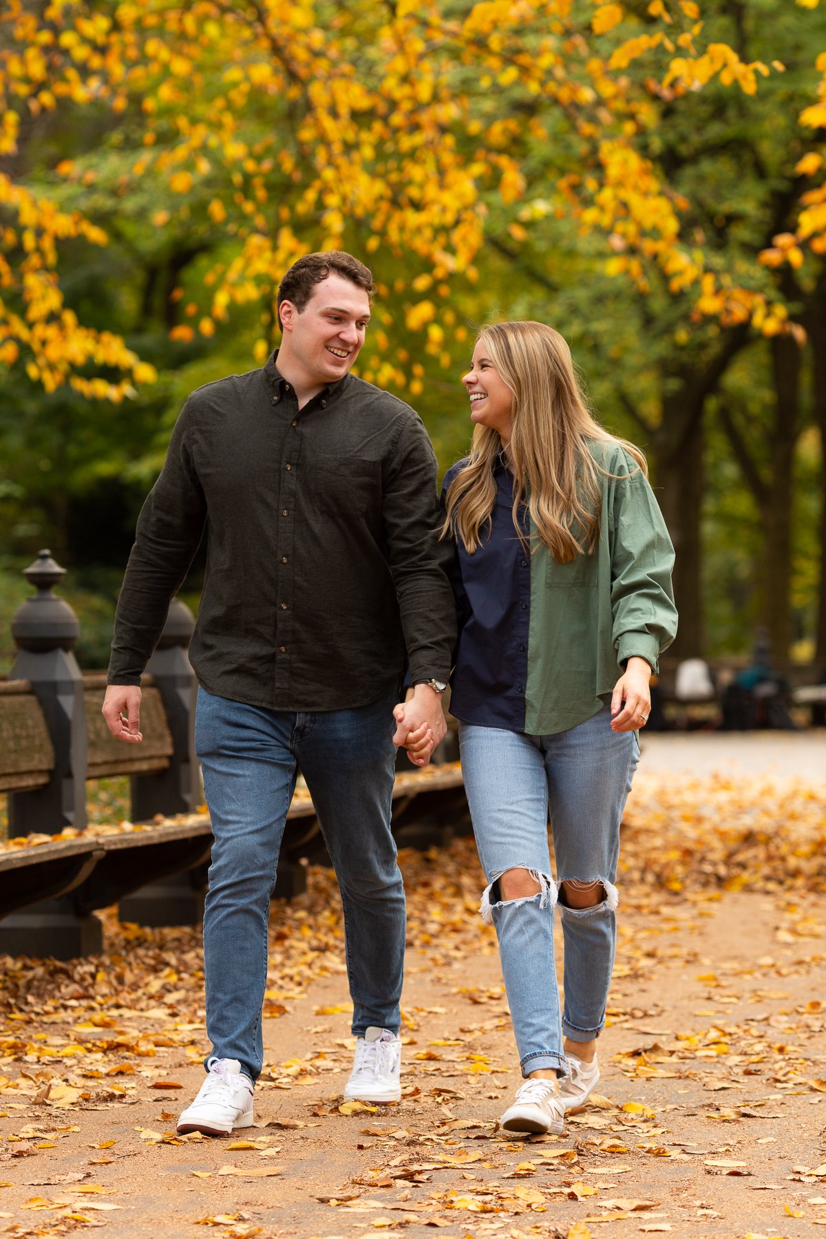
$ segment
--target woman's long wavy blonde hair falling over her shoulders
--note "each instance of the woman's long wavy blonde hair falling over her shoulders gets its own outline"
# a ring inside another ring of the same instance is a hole
[[[524,543],[525,535],[519,506],[526,503],[536,539],[555,560],[567,564],[578,554],[591,554],[599,540],[601,476],[613,476],[594,460],[592,445],[623,447],[644,473],[645,457],[594,421],[571,349],[559,331],[541,322],[499,322],[483,327],[477,343],[484,344],[514,398],[506,450],[514,476],[513,520],[520,540]],[[474,426],[468,461],[447,491],[442,535],[458,535],[471,554],[493,513],[493,470],[502,446],[493,427]]]

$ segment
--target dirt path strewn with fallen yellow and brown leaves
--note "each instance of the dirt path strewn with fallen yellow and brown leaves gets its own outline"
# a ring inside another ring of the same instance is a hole
[[[826,804],[809,790],[794,802],[749,792],[752,821],[768,814],[778,830],[757,830],[755,841],[752,826],[732,850],[731,821],[748,805],[731,789],[684,787],[680,808],[655,781],[641,787],[625,839],[602,1100],[559,1137],[495,1130],[519,1077],[495,940],[473,912],[479,875],[467,840],[404,857],[405,1095],[375,1113],[339,1110],[352,1038],[326,871],[313,870],[307,896],[274,918],[267,1011],[279,1017],[265,1022],[256,1126],[243,1141],[173,1135],[202,1078],[194,933],[121,938],[113,924],[103,960],[12,964],[0,1035],[0,1234],[98,1224],[104,1239],[817,1234],[826,895],[822,835],[817,851],[811,831]],[[719,797],[726,830],[713,825]],[[794,814],[798,843],[778,859],[780,818],[785,829]],[[708,864],[728,856],[728,890],[724,877],[713,887],[707,875],[690,880],[702,870],[698,821]],[[738,857],[750,866],[755,849],[764,888],[738,890]]]

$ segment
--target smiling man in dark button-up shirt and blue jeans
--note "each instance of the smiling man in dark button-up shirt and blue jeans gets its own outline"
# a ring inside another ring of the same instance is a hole
[[[372,294],[368,268],[341,252],[286,273],[280,349],[187,400],[118,602],[103,712],[115,736],[136,742],[140,674],[206,528],[191,659],[214,835],[203,924],[212,1053],[178,1131],[225,1135],[253,1123],[270,893],[297,767],[344,907],[357,1036],[344,1095],[401,1095],[394,743],[426,764],[445,733],[454,620],[425,429],[349,373]],[[393,735],[405,667],[414,688]]]

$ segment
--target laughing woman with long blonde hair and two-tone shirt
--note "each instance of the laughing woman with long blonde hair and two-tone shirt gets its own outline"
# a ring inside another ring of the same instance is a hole
[[[559,1132],[599,1077],[619,823],[649,679],[676,632],[674,550],[641,452],[593,420],[559,332],[483,328],[462,382],[473,442],[443,491],[459,616],[451,711],[488,881],[479,911],[497,928],[525,1077],[502,1126]]]

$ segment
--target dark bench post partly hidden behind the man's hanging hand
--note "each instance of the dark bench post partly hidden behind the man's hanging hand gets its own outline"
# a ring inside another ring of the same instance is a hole
[[[133,774],[133,821],[149,821],[156,814],[194,813],[202,803],[201,771],[194,753],[194,707],[198,681],[187,648],[194,629],[194,616],[185,602],[172,598],[170,613],[146,664],[161,694],[166,721],[172,733],[172,760],[155,774]],[[172,873],[142,886],[120,901],[121,921],[142,926],[193,926],[203,919],[207,887],[204,865]]]

